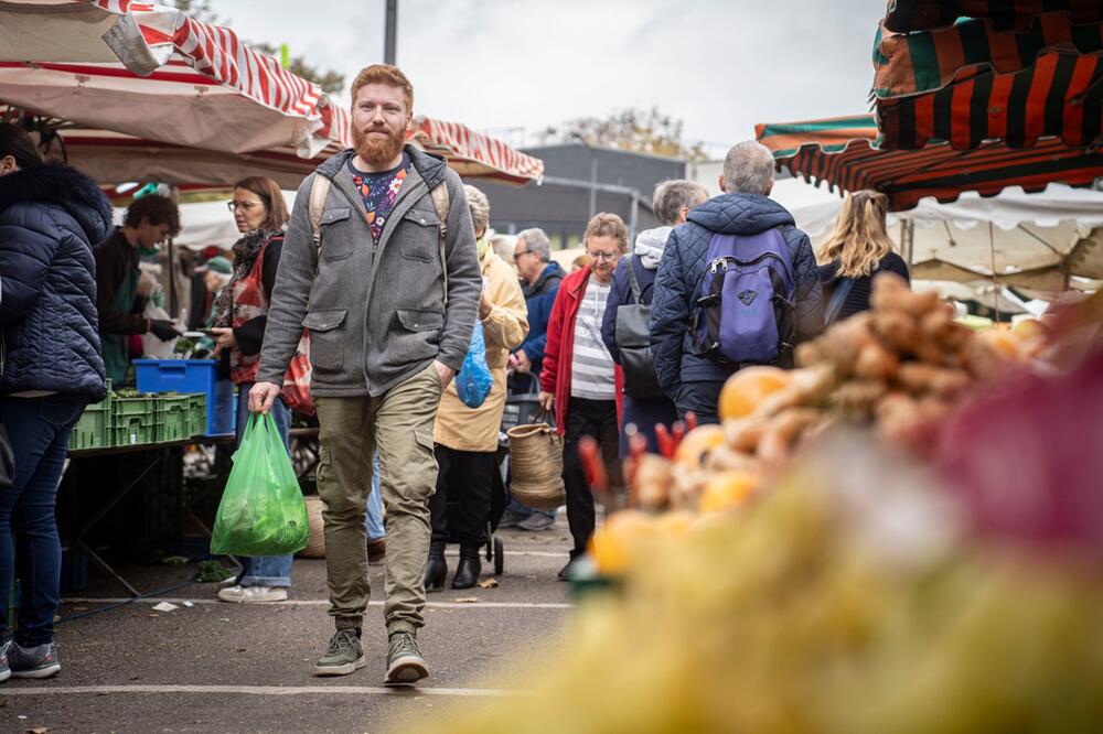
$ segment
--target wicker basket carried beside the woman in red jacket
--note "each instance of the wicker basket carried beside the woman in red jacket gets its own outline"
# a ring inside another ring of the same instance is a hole
[[[563,486],[563,438],[547,423],[528,423],[508,431],[510,494],[536,509],[556,509],[566,501]]]

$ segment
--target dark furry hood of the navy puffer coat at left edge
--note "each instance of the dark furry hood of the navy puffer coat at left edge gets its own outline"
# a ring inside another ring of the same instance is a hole
[[[43,163],[0,176],[0,212],[28,202],[65,209],[93,246],[111,231],[107,196],[92,179],[67,165]]]

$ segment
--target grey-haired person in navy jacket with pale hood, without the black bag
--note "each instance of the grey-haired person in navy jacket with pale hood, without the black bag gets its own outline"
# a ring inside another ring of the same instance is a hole
[[[621,258],[613,271],[613,285],[609,292],[609,303],[606,305],[604,319],[601,323],[601,338],[609,348],[613,361],[623,367],[620,349],[617,346],[617,312],[622,305],[632,305],[636,299],[632,293],[632,280],[629,268],[635,274],[635,283],[640,288],[639,303],[650,305],[654,295],[655,274],[658,262],[666,247],[666,239],[674,227],[685,224],[686,216],[695,206],[708,199],[708,191],[693,181],[666,181],[655,187],[652,211],[662,225],[654,229],[645,229],[635,238],[635,250],[629,257]],[[658,453],[658,441],[655,438],[655,427],[660,423],[670,428],[678,419],[677,408],[667,396],[658,395],[661,388],[654,385],[653,397],[633,396],[631,378],[624,376],[624,421],[621,428],[620,455],[628,456],[628,439],[630,428],[634,427],[647,439],[647,451]]]

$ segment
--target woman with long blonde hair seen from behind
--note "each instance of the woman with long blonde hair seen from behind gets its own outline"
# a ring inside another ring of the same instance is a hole
[[[835,231],[818,252],[827,326],[869,310],[869,291],[878,273],[895,272],[910,282],[908,263],[892,251],[885,225],[887,215],[888,197],[875,191],[856,191],[843,202]]]

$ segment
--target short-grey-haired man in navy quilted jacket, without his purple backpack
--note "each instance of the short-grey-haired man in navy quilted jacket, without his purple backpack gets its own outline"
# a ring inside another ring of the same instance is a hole
[[[716,234],[749,237],[778,229],[792,263],[795,290],[795,344],[823,331],[823,291],[816,277],[816,259],[808,236],[794,225],[785,207],[768,198],[773,188],[773,156],[753,140],[741,142],[724,161],[720,190],[675,227],[655,278],[652,301],[651,348],[655,374],[663,390],[674,399],[678,415],[693,411],[702,423],[719,422],[720,388],[738,365],[724,365],[694,348],[690,324],[696,292]]]

